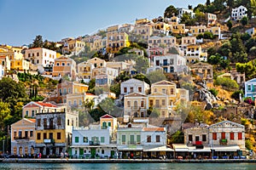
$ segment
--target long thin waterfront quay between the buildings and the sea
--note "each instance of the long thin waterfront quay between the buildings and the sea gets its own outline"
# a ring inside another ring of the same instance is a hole
[[[256,163],[256,159],[206,159],[206,160],[160,160],[160,159],[0,159],[5,163]]]

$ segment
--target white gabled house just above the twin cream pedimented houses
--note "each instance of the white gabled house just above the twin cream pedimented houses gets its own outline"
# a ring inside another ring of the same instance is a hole
[[[148,83],[137,80],[135,78],[131,78],[125,82],[121,82],[121,94],[131,94],[134,92],[141,94],[148,94],[148,90],[150,89]]]

